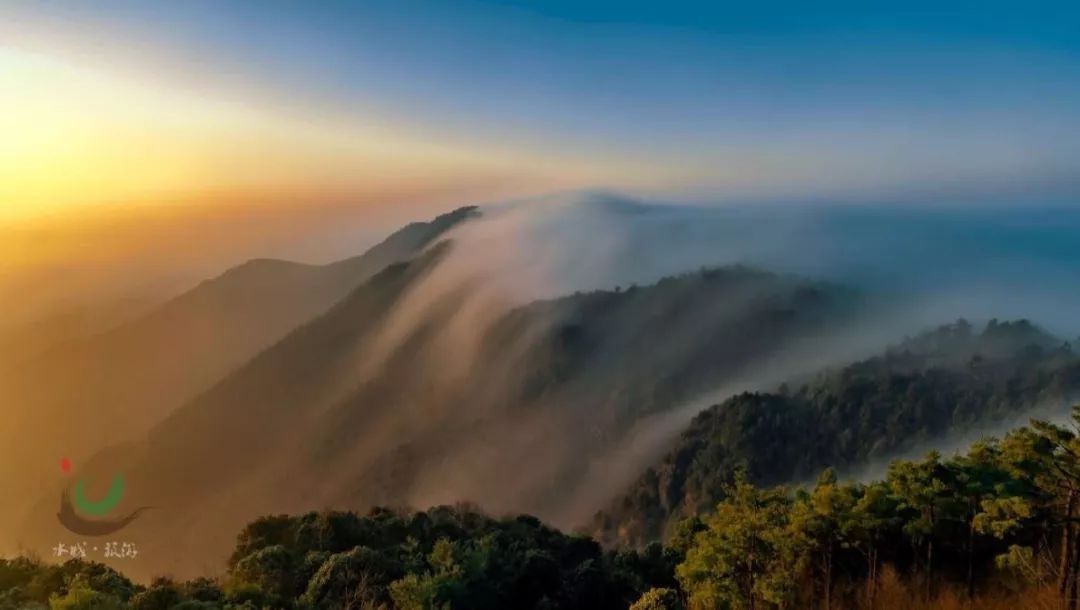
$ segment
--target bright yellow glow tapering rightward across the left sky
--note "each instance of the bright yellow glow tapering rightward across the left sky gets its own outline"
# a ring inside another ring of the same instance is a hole
[[[391,201],[577,181],[550,160],[274,113],[2,49],[0,133],[0,221],[106,203]]]

